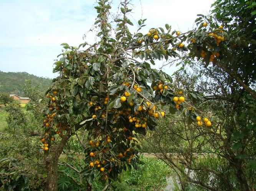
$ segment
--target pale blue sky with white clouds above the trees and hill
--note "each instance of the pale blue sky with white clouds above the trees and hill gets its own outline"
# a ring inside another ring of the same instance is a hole
[[[173,30],[193,28],[197,14],[209,13],[214,0],[131,0],[128,16],[134,23],[147,18],[142,32],[168,23]],[[119,0],[112,0],[117,14]],[[96,0],[1,0],[0,5],[0,70],[25,71],[36,76],[55,78],[53,63],[61,53],[60,44],[78,46],[93,44],[96,32],[89,32],[96,21]],[[86,34],[86,39],[83,39]],[[162,66],[157,62],[155,68]],[[172,74],[177,68],[165,67]]]

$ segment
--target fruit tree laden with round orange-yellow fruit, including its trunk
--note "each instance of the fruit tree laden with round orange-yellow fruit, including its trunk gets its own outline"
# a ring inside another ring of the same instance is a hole
[[[166,24],[165,29],[152,28],[142,34],[140,29],[146,19],[140,19],[138,31],[132,34],[128,26],[133,23],[127,18],[131,9],[127,4],[127,0],[121,2],[122,17],[115,19],[117,28],[113,29],[108,20],[110,3],[99,0],[94,23],[99,28],[99,42],[79,47],[62,44],[63,52],[54,68],[59,76],[46,92],[49,101],[40,138],[48,190],[57,190],[59,155],[79,129],[86,129],[91,139],[84,146],[88,189],[95,172],[100,173],[107,189],[109,181],[117,180],[122,170],[137,167],[137,134],[154,131],[157,119],[165,117],[167,108],[171,114],[183,113],[188,123],[214,125],[205,113],[193,107],[197,95],[179,89],[168,74],[150,66],[155,60],[179,58],[177,51],[188,50],[188,38],[192,44],[200,44],[198,38],[202,35],[197,32],[202,29],[182,33],[172,31]],[[202,27],[208,26],[205,23],[201,23]],[[212,38],[212,44],[225,43],[227,37],[222,28],[209,30],[205,38]],[[208,50],[191,49],[197,55],[198,51],[201,57],[209,57],[207,62],[215,63],[220,57],[218,52],[211,56]]]

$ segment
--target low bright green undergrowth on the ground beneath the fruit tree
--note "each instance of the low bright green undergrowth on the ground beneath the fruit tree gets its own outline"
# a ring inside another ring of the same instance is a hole
[[[120,175],[119,181],[111,182],[113,189],[115,190],[153,190],[153,189],[163,189],[166,185],[166,177],[170,174],[170,169],[159,159],[147,158],[140,156],[140,160],[143,164],[139,165],[139,169],[123,171]],[[85,188],[86,179],[83,178],[80,185],[79,173],[75,169],[79,169],[80,165],[85,165],[82,161],[73,160],[71,162],[65,159],[61,162],[68,162],[69,165],[60,165],[59,169],[62,172],[58,179],[59,190],[78,190],[79,188]],[[70,168],[72,165],[72,168]],[[81,168],[80,168],[81,170]],[[81,186],[81,187],[79,187]],[[105,187],[102,183],[101,176],[99,173],[92,181],[92,190],[101,191]]]

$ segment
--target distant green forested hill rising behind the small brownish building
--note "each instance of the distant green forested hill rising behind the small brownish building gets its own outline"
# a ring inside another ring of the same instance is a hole
[[[51,79],[38,77],[26,72],[2,72],[0,71],[0,93],[7,92],[23,96],[25,80],[31,80],[33,86],[39,86],[42,91],[50,86]]]

